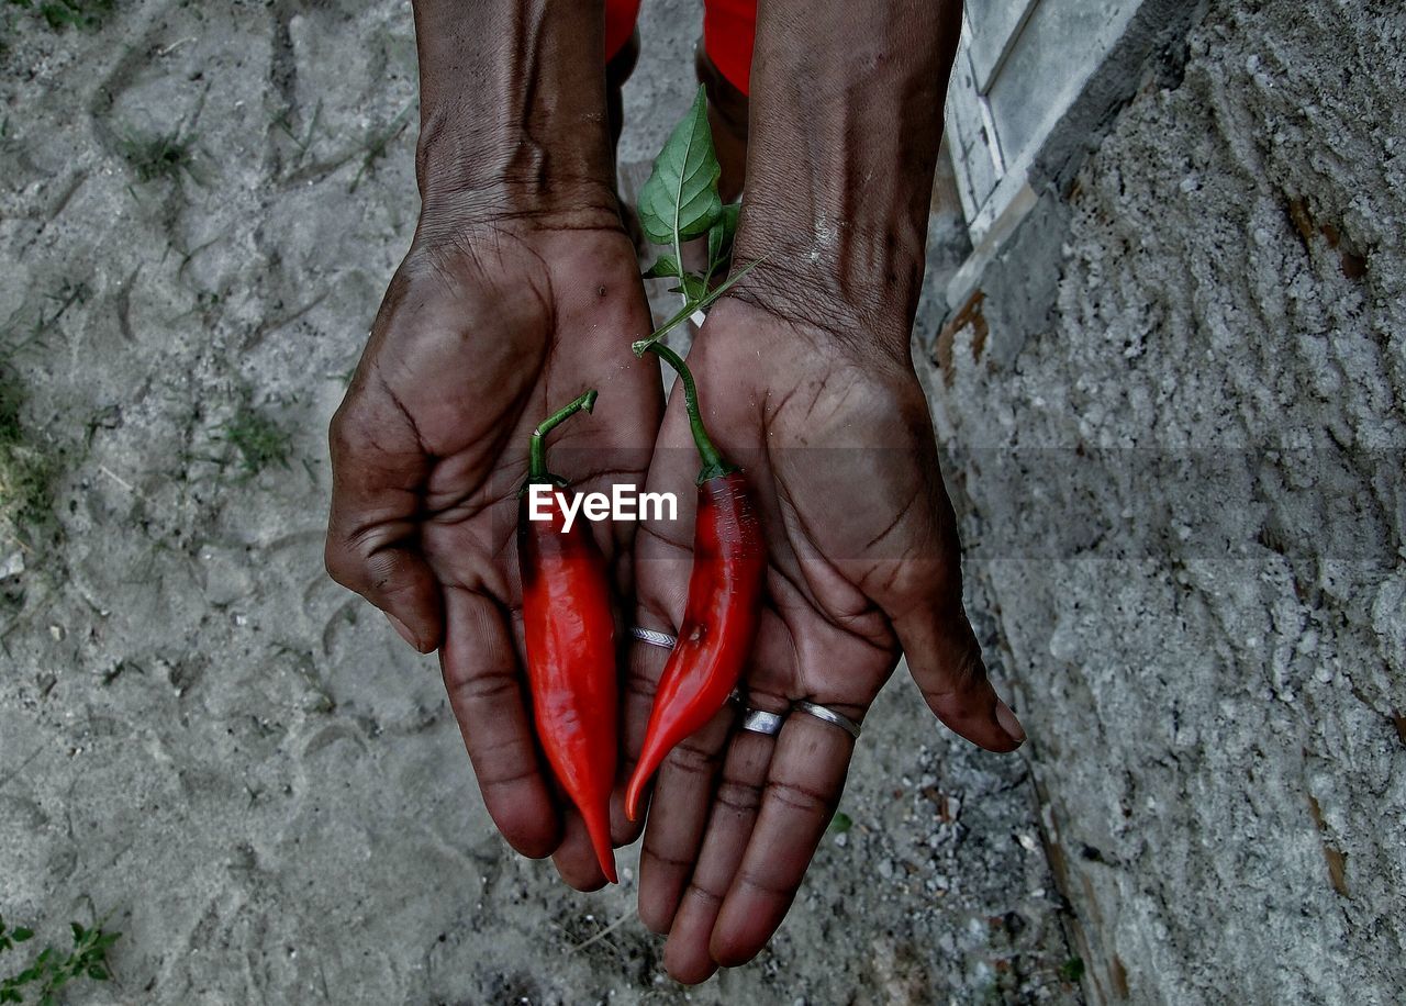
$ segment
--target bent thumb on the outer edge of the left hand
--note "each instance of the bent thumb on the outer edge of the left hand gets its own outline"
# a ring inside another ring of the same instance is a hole
[[[419,551],[429,458],[399,412],[343,406],[332,420],[332,513],[325,559],[333,580],[385,613],[422,653],[444,631],[439,580]]]

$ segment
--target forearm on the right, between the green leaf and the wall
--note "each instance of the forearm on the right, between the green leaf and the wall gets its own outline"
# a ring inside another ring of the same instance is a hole
[[[745,296],[907,360],[960,11],[761,0],[735,260],[766,263]]]

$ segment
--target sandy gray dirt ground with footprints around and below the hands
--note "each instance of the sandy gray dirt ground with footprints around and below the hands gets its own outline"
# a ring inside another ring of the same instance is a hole
[[[901,673],[852,826],[702,988],[634,850],[579,895],[496,836],[433,659],[322,568],[326,422],[415,223],[408,3],[0,18],[0,913],[111,913],[70,1002],[1077,1000],[1026,763]],[[645,4],[626,171],[699,24]]]

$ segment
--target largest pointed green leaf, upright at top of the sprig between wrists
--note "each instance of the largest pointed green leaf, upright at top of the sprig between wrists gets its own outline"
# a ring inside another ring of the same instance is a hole
[[[640,190],[640,225],[650,240],[673,244],[706,235],[723,212],[717,194],[721,174],[707,125],[707,97],[699,87],[693,105],[673,126]]]

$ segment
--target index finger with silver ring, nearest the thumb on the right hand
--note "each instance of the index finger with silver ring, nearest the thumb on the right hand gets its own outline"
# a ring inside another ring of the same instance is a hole
[[[855,707],[837,705],[859,718]],[[725,968],[752,960],[786,917],[845,788],[853,739],[792,712],[776,738],[762,806],[709,941]]]

